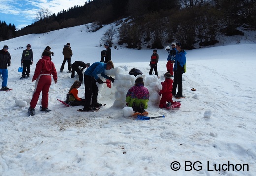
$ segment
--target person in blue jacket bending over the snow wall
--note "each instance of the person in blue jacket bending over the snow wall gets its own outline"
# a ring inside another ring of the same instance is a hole
[[[81,111],[92,111],[102,106],[102,104],[98,103],[98,86],[96,81],[99,84],[103,84],[103,81],[98,77],[98,74],[101,74],[102,77],[111,80],[113,83],[115,79],[105,74],[105,70],[112,68],[114,68],[113,62],[108,61],[107,63],[95,62],[86,69],[84,72],[85,106]]]

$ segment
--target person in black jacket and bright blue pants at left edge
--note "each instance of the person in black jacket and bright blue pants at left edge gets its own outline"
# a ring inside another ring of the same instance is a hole
[[[8,69],[11,66],[11,55],[8,52],[9,47],[7,45],[3,46],[0,50],[0,75],[2,75],[2,90],[9,90],[7,87],[8,81]]]

